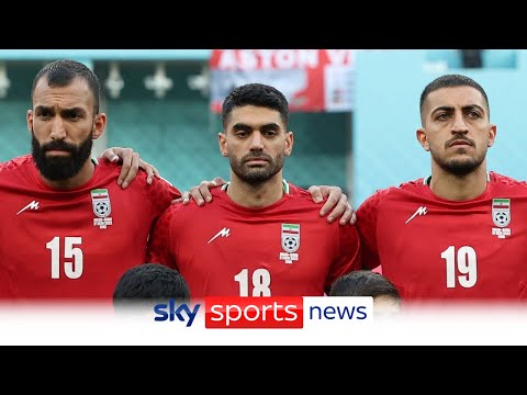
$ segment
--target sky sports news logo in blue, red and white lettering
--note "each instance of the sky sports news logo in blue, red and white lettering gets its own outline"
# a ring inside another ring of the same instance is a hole
[[[173,300],[154,307],[154,320],[210,329],[301,329],[349,325],[373,319],[371,296],[205,297],[202,304]],[[197,318],[200,318],[197,319]]]

